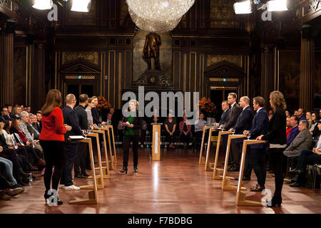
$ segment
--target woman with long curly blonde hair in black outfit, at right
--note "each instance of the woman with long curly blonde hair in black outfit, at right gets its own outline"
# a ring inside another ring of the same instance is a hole
[[[275,174],[275,192],[272,197],[271,204],[267,204],[269,207],[275,207],[277,204],[279,207],[282,203],[282,185],[286,171],[287,159],[283,155],[283,151],[287,146],[286,135],[286,120],[285,98],[280,91],[273,91],[270,93],[270,104],[274,111],[272,118],[269,121],[269,132],[266,135],[260,135],[258,140],[267,140],[270,147],[267,150],[267,155],[270,157],[272,170]]]

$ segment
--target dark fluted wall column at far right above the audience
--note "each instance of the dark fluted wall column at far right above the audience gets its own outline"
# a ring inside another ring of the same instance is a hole
[[[300,95],[298,108],[313,108],[313,77],[315,73],[315,43],[311,34],[311,26],[302,26],[301,30],[301,66]]]

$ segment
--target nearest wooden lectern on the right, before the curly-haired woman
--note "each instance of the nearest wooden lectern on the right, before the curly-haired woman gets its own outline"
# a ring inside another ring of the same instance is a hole
[[[244,140],[243,141],[243,150],[242,150],[242,157],[241,157],[241,164],[240,164],[240,175],[238,176],[238,188],[235,197],[235,204],[238,206],[265,206],[262,202],[247,200],[245,199],[245,193],[241,192],[243,190],[242,187],[242,179],[243,179],[243,170],[245,164],[245,155],[248,145],[253,144],[260,144],[265,143],[265,140]]]

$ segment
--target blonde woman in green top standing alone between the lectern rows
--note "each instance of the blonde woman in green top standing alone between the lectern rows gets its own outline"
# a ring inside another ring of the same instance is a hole
[[[138,172],[138,141],[143,125],[143,119],[138,117],[138,101],[130,100],[129,109],[131,110],[131,113],[129,114],[128,118],[124,119],[126,124],[123,124],[125,130],[123,134],[123,170],[121,170],[121,172],[126,172],[126,174],[131,142],[133,142],[133,168],[134,172]]]

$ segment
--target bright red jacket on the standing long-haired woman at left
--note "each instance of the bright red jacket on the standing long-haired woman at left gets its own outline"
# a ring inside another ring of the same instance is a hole
[[[41,133],[39,140],[64,141],[63,113],[58,107],[54,108],[49,115],[41,115]]]

